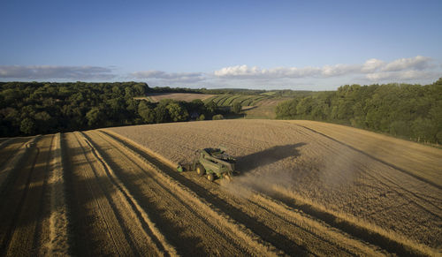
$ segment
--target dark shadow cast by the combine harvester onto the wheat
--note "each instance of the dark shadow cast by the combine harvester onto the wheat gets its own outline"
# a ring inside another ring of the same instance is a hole
[[[285,146],[276,146],[250,155],[237,157],[236,170],[239,170],[241,173],[245,173],[263,165],[276,163],[279,160],[286,159],[288,157],[298,157],[300,156],[300,153],[297,148],[305,145],[306,143],[301,142]]]

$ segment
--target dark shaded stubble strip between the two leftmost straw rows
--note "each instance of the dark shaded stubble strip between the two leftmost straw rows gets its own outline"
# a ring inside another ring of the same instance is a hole
[[[9,190],[13,194],[10,197],[17,200],[17,203],[5,230],[1,253],[17,256],[38,253],[41,246],[39,236],[42,232],[42,214],[47,207],[44,204],[44,193],[53,138],[52,135],[43,136],[33,147],[34,153],[25,169],[15,170],[15,173],[24,174],[16,174],[19,178]]]

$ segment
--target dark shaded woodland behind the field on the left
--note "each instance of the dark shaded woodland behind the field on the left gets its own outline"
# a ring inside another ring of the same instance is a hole
[[[0,137],[211,118],[216,104],[134,100],[146,83],[0,82]]]

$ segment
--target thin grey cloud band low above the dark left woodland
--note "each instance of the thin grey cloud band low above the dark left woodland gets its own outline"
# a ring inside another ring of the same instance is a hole
[[[113,79],[112,70],[97,66],[2,65],[0,78],[11,79]]]

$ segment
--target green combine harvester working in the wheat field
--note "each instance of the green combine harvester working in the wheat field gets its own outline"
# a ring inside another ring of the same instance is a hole
[[[179,172],[196,170],[199,176],[206,176],[210,181],[215,178],[232,179],[236,160],[225,153],[225,148],[203,148],[196,150],[192,163],[179,163]]]

